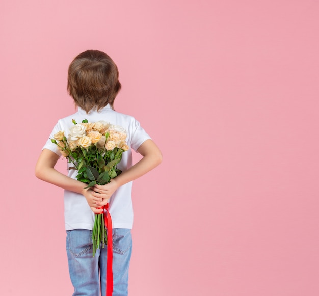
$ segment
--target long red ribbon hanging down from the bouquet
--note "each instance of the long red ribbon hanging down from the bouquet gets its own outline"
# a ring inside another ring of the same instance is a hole
[[[104,223],[107,228],[107,237],[108,237],[108,258],[107,258],[107,295],[112,296],[113,293],[113,242],[112,242],[112,219],[109,212],[109,204],[104,206]]]

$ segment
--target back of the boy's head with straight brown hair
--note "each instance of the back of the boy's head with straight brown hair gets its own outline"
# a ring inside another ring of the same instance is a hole
[[[70,64],[67,90],[76,105],[87,113],[113,103],[121,89],[119,72],[113,60],[99,50],[80,53]]]

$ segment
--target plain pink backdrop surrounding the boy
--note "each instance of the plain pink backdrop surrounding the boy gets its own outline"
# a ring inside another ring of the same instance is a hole
[[[0,19],[1,295],[72,294],[62,190],[34,166],[86,49],[164,154],[134,186],[130,296],[319,294],[317,1],[12,0]]]

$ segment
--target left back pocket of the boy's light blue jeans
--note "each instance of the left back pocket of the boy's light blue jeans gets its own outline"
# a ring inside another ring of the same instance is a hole
[[[92,231],[86,229],[67,230],[69,251],[76,257],[92,248]]]

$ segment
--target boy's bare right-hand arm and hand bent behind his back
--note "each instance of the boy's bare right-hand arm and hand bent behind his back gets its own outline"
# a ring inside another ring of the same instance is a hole
[[[151,139],[146,140],[137,149],[137,152],[139,152],[143,156],[143,158],[138,163],[136,163],[134,166],[130,167],[127,171],[123,172],[114,179],[111,179],[110,183],[106,185],[94,186],[95,192],[103,194],[103,196],[107,197],[106,200],[103,199],[102,202],[97,202],[98,205],[102,206],[107,204],[111,195],[120,186],[141,177],[162,162],[162,153]]]

